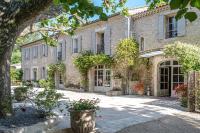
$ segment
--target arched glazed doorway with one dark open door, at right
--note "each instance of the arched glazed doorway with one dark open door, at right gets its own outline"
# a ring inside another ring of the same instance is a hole
[[[168,60],[159,65],[159,96],[175,97],[175,87],[184,83],[181,65],[176,60]]]

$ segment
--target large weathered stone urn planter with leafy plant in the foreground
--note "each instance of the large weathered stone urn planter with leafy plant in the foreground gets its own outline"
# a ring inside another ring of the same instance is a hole
[[[95,113],[99,99],[80,99],[69,107],[71,128],[75,133],[90,133],[95,128]]]

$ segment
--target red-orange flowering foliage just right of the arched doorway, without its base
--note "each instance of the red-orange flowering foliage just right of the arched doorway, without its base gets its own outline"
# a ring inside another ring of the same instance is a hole
[[[175,92],[181,97],[187,97],[187,84],[179,84],[175,87]]]

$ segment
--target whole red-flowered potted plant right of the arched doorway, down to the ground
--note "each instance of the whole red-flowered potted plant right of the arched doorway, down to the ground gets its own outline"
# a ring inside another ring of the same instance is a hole
[[[187,107],[187,85],[186,84],[179,84],[175,87],[175,93],[180,99],[181,106]]]

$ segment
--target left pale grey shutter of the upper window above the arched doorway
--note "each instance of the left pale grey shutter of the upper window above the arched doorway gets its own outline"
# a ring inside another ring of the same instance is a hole
[[[158,39],[165,38],[165,17],[164,15],[158,16]]]

